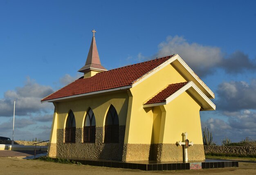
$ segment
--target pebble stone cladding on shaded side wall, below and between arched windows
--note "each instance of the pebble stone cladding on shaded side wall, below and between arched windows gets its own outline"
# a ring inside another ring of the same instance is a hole
[[[76,128],[76,143],[65,143],[65,129],[57,129],[56,157],[122,160],[125,126],[119,126],[119,143],[104,144],[104,135],[104,127],[96,127],[95,143],[83,143],[83,128]]]

